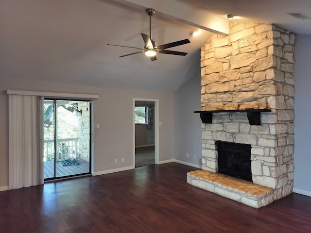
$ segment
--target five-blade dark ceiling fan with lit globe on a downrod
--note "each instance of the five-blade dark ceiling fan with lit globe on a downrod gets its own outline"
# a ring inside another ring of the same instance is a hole
[[[179,52],[179,51],[172,51],[172,50],[166,50],[172,47],[184,45],[190,43],[190,40],[179,40],[172,43],[164,44],[164,45],[156,45],[155,41],[151,38],[151,17],[155,14],[155,9],[147,8],[145,10],[147,15],[149,16],[149,35],[141,33],[142,39],[145,42],[145,46],[143,49],[137,48],[137,47],[130,47],[130,46],[122,46],[122,45],[111,45],[111,46],[119,46],[119,47],[125,47],[125,48],[132,48],[132,49],[138,49],[139,52],[133,52],[126,55],[122,55],[120,57],[126,57],[129,55],[137,54],[137,53],[145,53],[145,55],[149,56],[151,61],[156,60],[156,53],[164,53],[164,54],[173,54],[173,55],[179,55],[179,56],[186,56],[187,52]]]

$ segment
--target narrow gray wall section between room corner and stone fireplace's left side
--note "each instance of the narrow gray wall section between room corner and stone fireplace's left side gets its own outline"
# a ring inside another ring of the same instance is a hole
[[[174,92],[174,158],[194,165],[202,165],[201,119],[193,113],[200,109],[201,75],[196,74]]]

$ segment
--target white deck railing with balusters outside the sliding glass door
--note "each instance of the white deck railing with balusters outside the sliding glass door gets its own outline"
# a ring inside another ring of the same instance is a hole
[[[56,161],[77,158],[79,156],[79,138],[56,139]],[[43,146],[43,161],[54,160],[54,139],[45,139]]]

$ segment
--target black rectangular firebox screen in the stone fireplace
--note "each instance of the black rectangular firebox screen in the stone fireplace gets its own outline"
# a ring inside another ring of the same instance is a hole
[[[251,145],[216,141],[218,172],[252,181]]]

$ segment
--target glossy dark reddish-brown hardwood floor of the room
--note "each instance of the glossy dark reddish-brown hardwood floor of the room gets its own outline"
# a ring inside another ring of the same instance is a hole
[[[186,182],[176,163],[0,192],[0,233],[309,233],[311,198],[254,209]]]

